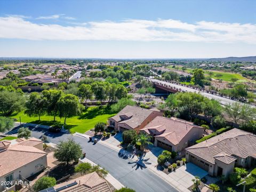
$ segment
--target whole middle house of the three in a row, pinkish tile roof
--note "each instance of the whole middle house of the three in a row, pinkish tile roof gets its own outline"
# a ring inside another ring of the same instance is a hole
[[[169,151],[181,151],[190,143],[202,138],[204,129],[179,118],[157,116],[140,132],[151,135],[154,146]]]

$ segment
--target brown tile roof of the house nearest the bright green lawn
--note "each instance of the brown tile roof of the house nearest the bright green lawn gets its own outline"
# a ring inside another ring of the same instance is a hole
[[[126,106],[117,115],[110,119],[114,119],[116,122],[125,123],[134,129],[141,125],[141,123],[153,112],[154,110],[144,109],[141,107]],[[129,119],[123,119],[123,116],[126,116]]]

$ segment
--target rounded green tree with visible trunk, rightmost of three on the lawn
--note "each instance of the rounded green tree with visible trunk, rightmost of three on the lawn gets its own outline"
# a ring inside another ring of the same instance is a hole
[[[82,106],[78,100],[78,97],[73,94],[64,94],[59,99],[58,103],[59,116],[64,117],[64,124],[66,119],[74,117],[82,113],[84,106]]]

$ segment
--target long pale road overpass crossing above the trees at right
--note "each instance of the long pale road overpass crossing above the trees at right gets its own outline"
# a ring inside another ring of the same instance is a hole
[[[197,92],[201,93],[205,97],[209,99],[215,99],[219,101],[222,105],[228,105],[229,103],[234,103],[234,102],[241,102],[236,99],[232,99],[226,95],[220,94],[218,92],[211,92],[211,91],[206,91],[204,89],[198,89],[197,87],[192,87],[192,86],[186,86],[186,85],[181,85],[175,82],[165,82],[165,81],[160,81],[157,79],[152,79],[148,78],[148,81],[153,82],[155,85],[156,89],[161,89],[166,92],[170,93],[177,93],[177,92]],[[243,103],[243,102],[241,102]],[[255,107],[254,105],[251,105],[252,107]]]

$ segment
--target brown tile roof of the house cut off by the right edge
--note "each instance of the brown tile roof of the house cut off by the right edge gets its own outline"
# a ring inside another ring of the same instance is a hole
[[[222,162],[226,161],[227,163],[233,161],[230,158],[231,155],[242,158],[248,156],[256,158],[256,135],[239,129],[232,129],[197,145],[188,147],[186,150],[212,164],[215,164],[215,158],[220,154],[227,154],[229,156],[217,157],[217,159],[222,159]],[[226,158],[226,160],[223,158]]]

